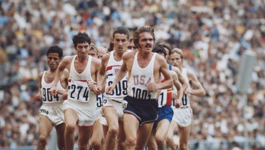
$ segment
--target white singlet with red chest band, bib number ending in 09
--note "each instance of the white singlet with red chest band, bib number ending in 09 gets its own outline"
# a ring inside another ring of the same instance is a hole
[[[122,64],[122,60],[116,61],[114,59],[114,51],[110,52],[109,60],[106,66],[106,85],[105,87],[110,86],[115,77],[116,74]],[[122,101],[122,99],[127,96],[127,73],[124,78],[122,78],[116,85],[115,89],[109,94],[104,94],[105,97],[108,97],[113,100]]]

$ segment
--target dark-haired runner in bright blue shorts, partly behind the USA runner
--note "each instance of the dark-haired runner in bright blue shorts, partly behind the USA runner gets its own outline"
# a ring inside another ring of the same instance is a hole
[[[152,52],[158,53],[166,59],[167,53],[163,46],[156,46]],[[170,68],[169,68],[170,69]],[[147,145],[148,149],[166,149],[166,135],[168,133],[170,122],[172,121],[172,117],[174,115],[172,109],[172,98],[174,98],[177,102],[180,102],[179,98],[183,96],[183,89],[179,82],[177,73],[170,69],[171,76],[173,78],[174,86],[177,88],[177,94],[172,96],[173,88],[163,89],[161,93],[159,93],[158,98],[158,119],[154,122],[154,126],[151,132],[151,135],[148,139]],[[161,75],[161,82],[164,82],[165,79],[163,75]],[[178,103],[179,104],[179,103]]]

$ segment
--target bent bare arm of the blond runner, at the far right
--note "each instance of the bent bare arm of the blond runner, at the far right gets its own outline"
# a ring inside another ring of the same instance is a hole
[[[198,81],[196,75],[194,72],[190,71],[187,69],[187,76],[189,79],[189,84],[191,84],[192,89],[187,89],[185,91],[185,94],[191,94],[191,95],[196,95],[196,96],[204,96],[205,91],[201,85],[201,83]]]

